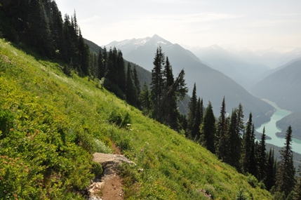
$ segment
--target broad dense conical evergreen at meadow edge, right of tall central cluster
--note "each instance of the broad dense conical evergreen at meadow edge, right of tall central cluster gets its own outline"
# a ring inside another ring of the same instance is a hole
[[[201,127],[201,140],[200,143],[206,147],[210,152],[215,154],[215,116],[213,114],[213,107],[209,101],[203,116],[203,126]]]

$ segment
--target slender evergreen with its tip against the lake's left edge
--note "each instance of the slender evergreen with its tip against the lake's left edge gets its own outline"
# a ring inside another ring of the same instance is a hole
[[[259,142],[258,148],[258,173],[257,179],[265,182],[266,173],[267,173],[267,153],[265,150],[265,127],[263,128],[261,140]]]

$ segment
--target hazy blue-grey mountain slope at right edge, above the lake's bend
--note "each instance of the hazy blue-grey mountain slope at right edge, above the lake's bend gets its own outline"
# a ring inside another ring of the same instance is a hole
[[[293,112],[301,111],[301,60],[297,60],[267,76],[251,92],[267,98]]]

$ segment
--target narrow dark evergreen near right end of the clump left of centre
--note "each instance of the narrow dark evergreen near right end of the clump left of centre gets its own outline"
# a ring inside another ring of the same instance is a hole
[[[126,72],[126,101],[129,104],[136,106],[137,98],[138,97],[132,77],[131,65],[128,62],[128,70]]]

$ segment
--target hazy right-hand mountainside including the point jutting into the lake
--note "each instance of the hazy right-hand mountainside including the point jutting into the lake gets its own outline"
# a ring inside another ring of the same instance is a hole
[[[281,128],[278,136],[284,137],[288,126],[292,126],[293,138],[301,140],[301,59],[292,60],[279,67],[276,72],[256,84],[251,92],[267,98],[292,112],[276,125]]]

